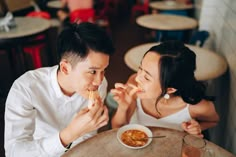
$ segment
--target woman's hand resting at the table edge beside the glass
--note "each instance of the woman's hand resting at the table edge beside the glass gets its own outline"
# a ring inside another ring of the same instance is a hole
[[[187,133],[203,138],[201,126],[196,120],[192,119],[188,122],[183,122],[181,126]]]

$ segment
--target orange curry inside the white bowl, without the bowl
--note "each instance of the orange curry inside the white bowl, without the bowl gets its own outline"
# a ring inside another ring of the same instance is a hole
[[[141,147],[148,142],[147,134],[140,130],[127,130],[121,135],[121,140],[128,146]]]

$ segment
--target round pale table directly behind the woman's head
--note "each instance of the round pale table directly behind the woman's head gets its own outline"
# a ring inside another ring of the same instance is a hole
[[[134,71],[138,70],[143,55],[149,48],[158,43],[146,43],[129,49],[124,57],[126,65]],[[210,80],[219,77],[227,70],[226,60],[215,52],[193,45],[186,45],[196,54],[197,80]]]

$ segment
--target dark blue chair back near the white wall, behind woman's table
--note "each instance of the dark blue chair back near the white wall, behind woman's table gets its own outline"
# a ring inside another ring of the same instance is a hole
[[[192,37],[189,40],[189,44],[202,47],[209,35],[210,33],[208,31],[198,30],[193,33]]]

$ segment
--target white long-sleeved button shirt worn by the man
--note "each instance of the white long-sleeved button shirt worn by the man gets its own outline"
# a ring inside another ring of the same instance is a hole
[[[64,153],[59,132],[87,107],[88,100],[78,94],[65,96],[58,85],[57,69],[54,66],[29,71],[13,83],[5,109],[6,157],[57,157]],[[98,91],[104,100],[106,79]],[[73,146],[94,134],[84,135]]]

